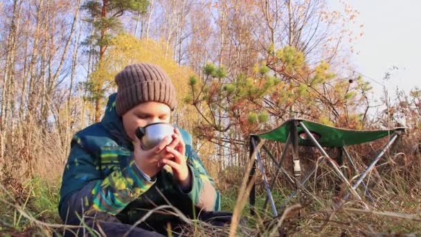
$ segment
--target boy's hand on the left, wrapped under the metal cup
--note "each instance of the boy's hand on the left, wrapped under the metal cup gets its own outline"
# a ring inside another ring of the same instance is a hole
[[[174,136],[174,134],[172,136]],[[165,137],[158,145],[150,150],[143,150],[143,148],[141,148],[141,141],[136,136],[134,139],[134,162],[136,162],[136,166],[149,177],[154,177],[156,173],[161,170],[162,166],[160,162],[162,159],[172,159],[174,157],[165,150],[165,147],[174,148],[177,145],[174,141],[170,143],[171,136]],[[170,144],[168,145],[168,143]]]

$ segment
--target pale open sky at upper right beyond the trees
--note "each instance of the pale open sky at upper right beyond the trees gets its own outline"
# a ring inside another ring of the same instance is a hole
[[[360,13],[352,26],[355,32],[364,24],[364,35],[352,42],[359,54],[352,55],[351,61],[355,71],[370,81],[374,97],[382,95],[383,85],[388,91],[421,88],[421,1],[345,1]],[[339,0],[328,3],[332,8],[342,6]],[[382,79],[386,72],[391,72],[389,80]]]

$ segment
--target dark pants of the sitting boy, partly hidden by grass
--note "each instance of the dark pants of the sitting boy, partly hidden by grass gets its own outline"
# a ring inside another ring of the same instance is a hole
[[[231,223],[232,213],[226,212],[226,211],[202,211],[199,220],[208,222],[209,224],[215,226],[215,227],[223,227],[224,225],[229,225]],[[164,224],[164,223],[161,223]],[[183,228],[183,222],[182,220],[179,220],[178,222],[172,222],[171,227],[174,230],[173,236],[177,236],[177,229]],[[80,227],[78,229],[72,229],[71,231],[58,231],[57,234],[62,235],[64,233],[64,236],[95,236],[96,234],[100,234],[100,236],[103,236],[104,234],[106,236],[166,236],[167,229],[165,228],[165,224],[161,225],[161,227],[148,227],[148,226],[142,226],[142,227],[134,227],[132,225],[126,225],[121,222],[109,222],[109,221],[99,221],[99,222],[93,222],[93,221],[87,221],[86,227]],[[98,226],[100,228],[98,228]],[[130,230],[132,229],[132,230]],[[90,231],[89,231],[90,230]],[[94,231],[93,231],[94,230]]]

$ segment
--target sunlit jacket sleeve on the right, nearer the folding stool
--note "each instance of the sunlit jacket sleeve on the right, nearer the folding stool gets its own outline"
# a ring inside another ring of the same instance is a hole
[[[186,149],[187,165],[192,174],[192,187],[188,193],[196,207],[205,211],[220,211],[220,192],[215,188],[215,182],[206,172],[199,156],[190,146]]]

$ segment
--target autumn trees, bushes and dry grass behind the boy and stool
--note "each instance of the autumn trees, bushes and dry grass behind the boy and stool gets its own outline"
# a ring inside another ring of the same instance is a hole
[[[346,1],[335,6],[325,0],[0,1],[0,227],[10,234],[53,231],[48,223],[60,223],[57,192],[71,137],[100,121],[118,71],[150,62],[172,78],[178,100],[172,122],[192,134],[226,197],[224,209],[241,200],[251,133],[292,117],[357,130],[403,125],[408,134],[370,177],[377,198],[364,202],[370,211],[332,217],[333,179],[322,167],[314,199],[287,229],[316,235],[419,231],[421,90],[385,87],[373,96],[371,84],[386,85],[393,74],[374,79],[355,68],[352,45],[364,37],[364,24]],[[383,145],[352,148],[361,170]],[[279,154],[283,147],[270,148]],[[314,165],[317,152],[302,151],[305,168]],[[269,163],[269,179],[275,170]],[[280,202],[283,190],[294,187],[282,178],[277,184]],[[395,213],[399,221],[375,211]],[[404,213],[415,216],[408,222]],[[249,218],[250,231],[265,232],[265,218]],[[372,228],[359,226],[367,220]]]

